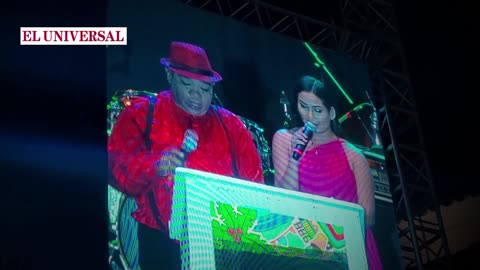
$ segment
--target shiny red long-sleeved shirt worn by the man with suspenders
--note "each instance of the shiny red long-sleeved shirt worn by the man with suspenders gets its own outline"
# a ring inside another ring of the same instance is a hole
[[[147,196],[147,192],[153,189],[159,218],[168,228],[172,191],[165,189],[162,183],[165,179],[157,176],[156,163],[166,148],[181,148],[188,128],[192,128],[199,139],[197,149],[188,155],[186,167],[233,177],[231,144],[239,178],[264,183],[260,157],[252,136],[232,112],[220,107],[218,109],[228,130],[229,142],[212,108],[203,116],[192,116],[174,103],[171,91],[160,92],[156,97],[150,133],[152,146],[147,151],[143,138],[147,111],[146,98],[132,102],[118,116],[108,140],[109,168],[115,178],[110,184],[135,198],[138,209],[133,213],[133,218],[138,222],[161,229],[155,221]]]

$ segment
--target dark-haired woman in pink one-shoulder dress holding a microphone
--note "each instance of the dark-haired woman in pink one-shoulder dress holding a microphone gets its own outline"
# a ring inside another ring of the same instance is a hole
[[[304,133],[305,127],[275,133],[272,141],[275,185],[361,205],[365,210],[369,269],[383,269],[371,230],[375,224],[373,179],[362,153],[335,133],[336,89],[304,76],[295,90],[298,114],[304,123],[313,124],[314,132],[310,140]],[[297,145],[306,145],[304,151],[295,150]],[[300,156],[298,160],[293,158],[294,151]]]

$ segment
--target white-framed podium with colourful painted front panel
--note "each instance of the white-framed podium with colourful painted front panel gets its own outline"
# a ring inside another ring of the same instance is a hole
[[[359,205],[178,168],[182,269],[368,269]]]

